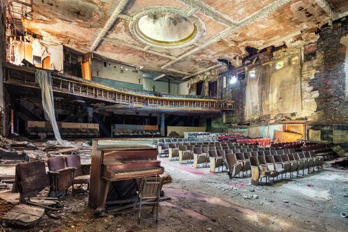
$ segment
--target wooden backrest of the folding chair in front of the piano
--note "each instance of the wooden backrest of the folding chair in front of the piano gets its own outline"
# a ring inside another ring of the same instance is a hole
[[[139,196],[146,199],[157,199],[162,189],[164,178],[145,177],[141,180]]]

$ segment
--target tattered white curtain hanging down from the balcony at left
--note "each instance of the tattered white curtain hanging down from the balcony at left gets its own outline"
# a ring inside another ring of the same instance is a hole
[[[58,130],[56,116],[54,114],[54,98],[52,90],[52,75],[44,70],[35,71],[35,82],[40,85],[42,95],[42,107],[44,109],[45,118],[52,124],[54,136],[57,144],[63,145],[61,133]]]

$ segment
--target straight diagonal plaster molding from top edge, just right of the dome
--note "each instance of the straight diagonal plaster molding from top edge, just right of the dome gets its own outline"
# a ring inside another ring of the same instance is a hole
[[[235,20],[232,20],[228,15],[223,15],[219,10],[215,10],[212,8],[212,6],[209,6],[206,3],[203,3],[202,1],[196,1],[196,0],[177,0],[182,1],[186,3],[188,6],[191,7],[198,7],[200,12],[203,14],[212,17],[217,22],[220,22],[221,24],[224,24],[225,26],[235,26],[237,25],[237,22]]]

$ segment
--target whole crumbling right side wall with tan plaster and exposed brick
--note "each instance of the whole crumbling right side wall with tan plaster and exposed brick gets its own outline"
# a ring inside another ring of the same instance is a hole
[[[346,123],[347,33],[348,20],[338,20],[324,26],[317,41],[294,39],[289,48],[265,51],[244,61],[235,75],[246,70],[246,78],[223,88],[223,99],[235,100],[235,111],[226,122],[255,125],[305,119],[322,125]],[[282,60],[284,67],[277,70],[276,63]],[[257,76],[248,81],[250,70],[256,70]]]

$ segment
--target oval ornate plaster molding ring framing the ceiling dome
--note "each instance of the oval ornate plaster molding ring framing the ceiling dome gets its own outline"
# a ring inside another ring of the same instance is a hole
[[[184,17],[185,19],[193,22],[193,24],[196,25],[197,32],[193,36],[193,38],[191,38],[187,42],[184,42],[183,44],[176,44],[176,45],[168,46],[168,45],[157,44],[155,42],[150,43],[149,41],[144,40],[136,32],[136,24],[141,19],[141,17],[143,17],[145,15],[153,15],[156,13],[171,13],[171,14],[175,14],[175,15],[180,15],[180,16]],[[196,40],[198,40],[199,38],[203,37],[203,35],[205,33],[205,24],[204,24],[203,20],[200,20],[199,18],[193,17],[192,15],[187,15],[187,13],[184,10],[180,10],[179,8],[173,8],[173,7],[169,7],[169,6],[152,6],[150,8],[145,8],[145,10],[143,10],[141,13],[138,13],[132,17],[132,20],[129,22],[129,30],[131,31],[134,38],[136,38],[136,40],[139,40],[142,43],[145,43],[147,45],[151,45],[152,47],[161,47],[161,48],[173,49],[173,48],[187,47],[187,46],[191,45],[193,42],[195,42]]]

